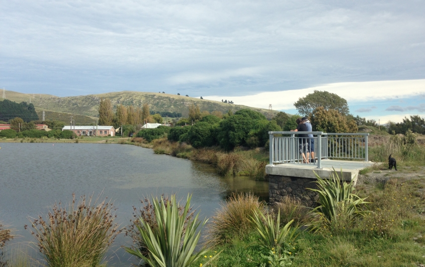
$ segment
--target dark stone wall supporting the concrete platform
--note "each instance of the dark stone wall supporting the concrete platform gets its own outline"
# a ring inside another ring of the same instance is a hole
[[[319,198],[316,192],[307,188],[317,188],[316,179],[300,178],[292,176],[268,175],[269,202],[280,202],[286,196],[293,196],[300,200],[303,205],[313,207]]]

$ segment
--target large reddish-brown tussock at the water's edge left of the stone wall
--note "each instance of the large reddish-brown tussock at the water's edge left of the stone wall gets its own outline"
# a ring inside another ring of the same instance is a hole
[[[231,242],[235,237],[243,237],[255,229],[251,221],[255,210],[265,212],[264,202],[252,193],[232,193],[221,209],[212,216],[207,226],[206,244],[211,246]]]

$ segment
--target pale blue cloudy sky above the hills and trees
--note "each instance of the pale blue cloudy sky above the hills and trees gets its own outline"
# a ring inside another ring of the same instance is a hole
[[[0,88],[166,92],[291,114],[425,117],[424,0],[0,0]]]

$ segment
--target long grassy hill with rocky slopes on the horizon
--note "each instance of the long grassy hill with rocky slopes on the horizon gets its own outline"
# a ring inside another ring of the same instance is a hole
[[[37,113],[39,111],[42,112],[45,110],[56,113],[65,113],[70,115],[77,114],[89,117],[97,117],[97,109],[100,98],[109,98],[112,101],[114,108],[119,104],[123,104],[124,106],[132,105],[134,107],[142,107],[144,103],[148,103],[151,111],[177,112],[181,113],[183,117],[188,116],[188,107],[191,104],[197,104],[200,106],[201,111],[220,111],[222,113],[226,113],[228,110],[235,112],[240,109],[249,108],[266,116],[269,114],[267,109],[258,109],[243,105],[227,104],[218,101],[162,93],[123,91],[76,97],[56,97],[53,95],[32,95],[6,91],[6,99],[11,101],[25,101],[28,103],[30,98],[31,103],[33,103],[33,105],[37,108]]]

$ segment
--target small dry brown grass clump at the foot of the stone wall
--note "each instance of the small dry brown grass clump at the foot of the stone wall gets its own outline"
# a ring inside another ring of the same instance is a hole
[[[294,220],[294,225],[307,225],[312,221],[310,209],[302,205],[301,200],[295,197],[284,197],[281,202],[273,206],[275,214],[280,210],[280,222],[287,224]]]

